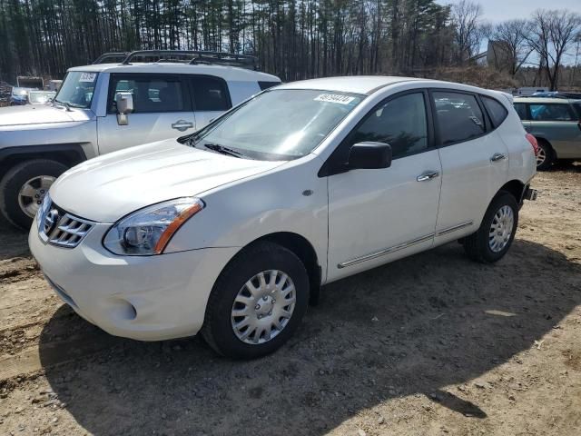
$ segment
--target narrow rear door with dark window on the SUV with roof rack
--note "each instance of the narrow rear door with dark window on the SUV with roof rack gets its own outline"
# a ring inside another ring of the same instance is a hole
[[[189,75],[196,130],[232,107],[228,85],[221,77]],[[248,95],[250,97],[250,95]]]

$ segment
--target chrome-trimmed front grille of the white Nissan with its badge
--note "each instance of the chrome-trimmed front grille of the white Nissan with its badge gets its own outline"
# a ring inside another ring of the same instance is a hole
[[[38,212],[38,233],[41,239],[59,247],[76,247],[94,227],[93,222],[67,213],[52,203],[48,195]]]

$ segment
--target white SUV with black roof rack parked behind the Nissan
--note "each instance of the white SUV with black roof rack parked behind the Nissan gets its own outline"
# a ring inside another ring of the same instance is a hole
[[[115,58],[122,62],[103,64]],[[75,164],[195,132],[281,83],[256,64],[240,54],[142,50],[70,68],[51,104],[0,109],[0,211],[29,227],[48,188]]]

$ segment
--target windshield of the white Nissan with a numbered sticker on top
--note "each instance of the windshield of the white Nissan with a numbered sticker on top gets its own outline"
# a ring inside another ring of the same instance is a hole
[[[363,99],[358,94],[271,90],[191,137],[190,144],[259,160],[309,154]]]

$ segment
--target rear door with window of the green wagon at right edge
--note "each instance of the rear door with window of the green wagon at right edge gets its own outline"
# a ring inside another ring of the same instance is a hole
[[[530,103],[531,134],[545,138],[558,158],[581,157],[581,128],[573,107],[563,103]]]

